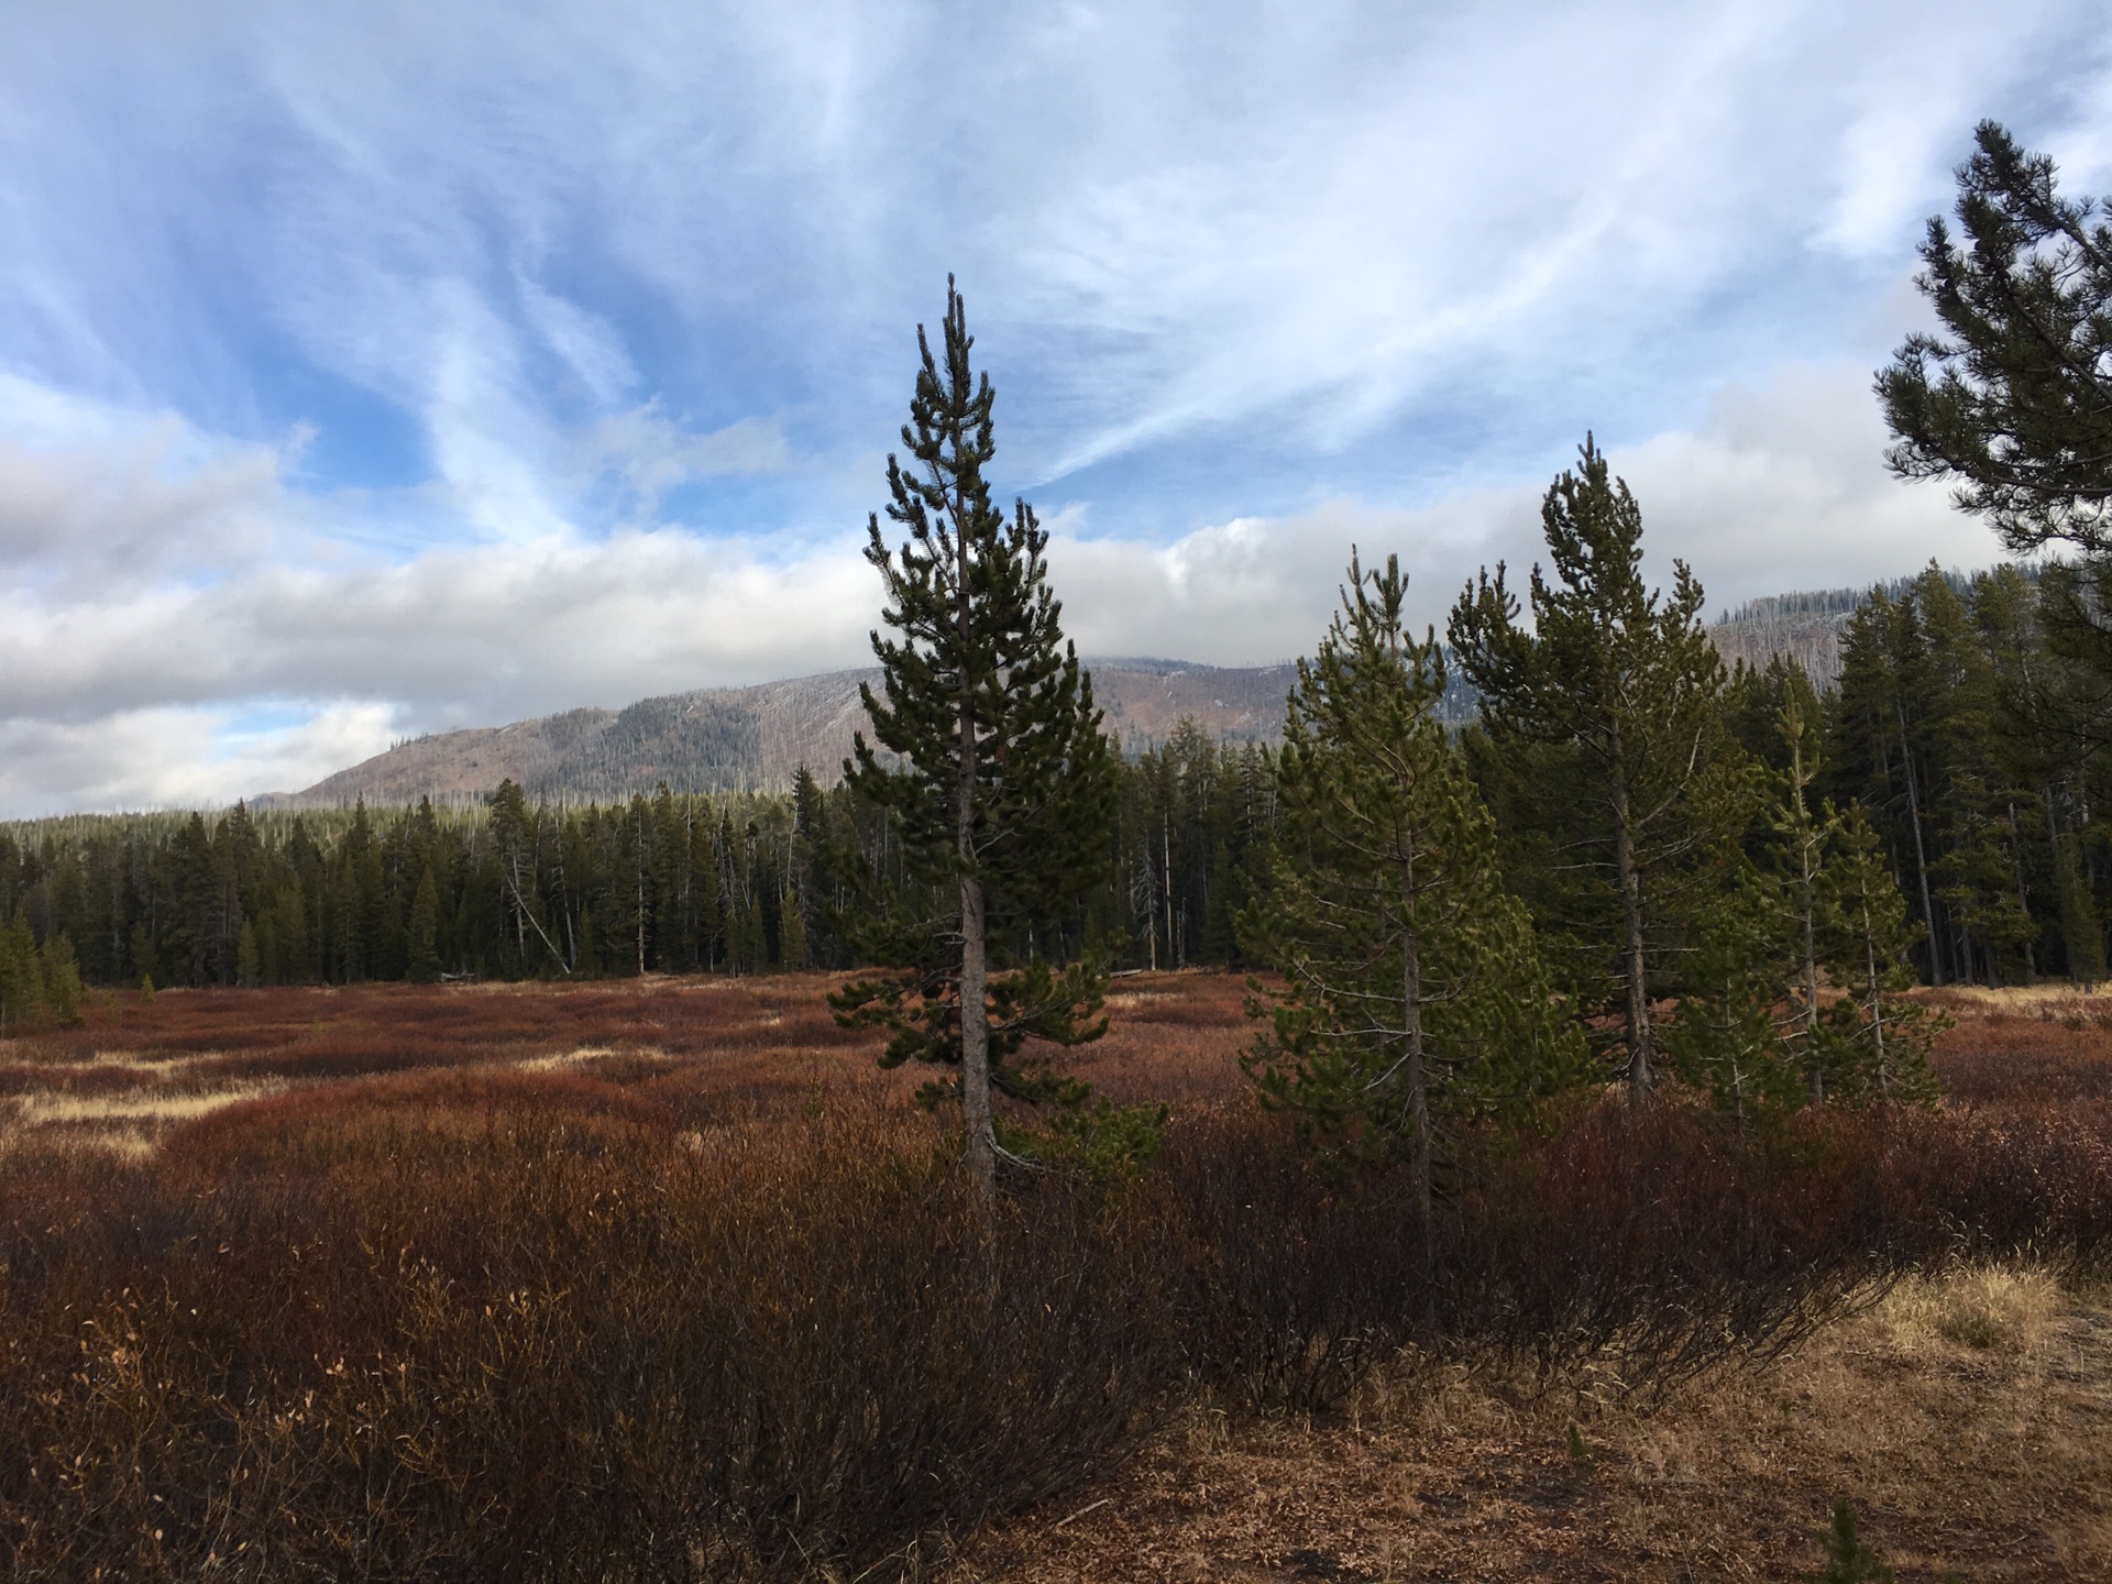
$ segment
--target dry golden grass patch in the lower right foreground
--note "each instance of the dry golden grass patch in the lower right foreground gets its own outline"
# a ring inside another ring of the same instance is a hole
[[[1662,1402],[1407,1358],[1328,1423],[1204,1404],[946,1580],[1793,1580],[1835,1497],[1901,1580],[2112,1578],[2108,1295],[2028,1265],[1913,1280]]]

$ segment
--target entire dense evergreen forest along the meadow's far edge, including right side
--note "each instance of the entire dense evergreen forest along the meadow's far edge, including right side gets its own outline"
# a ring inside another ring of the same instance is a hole
[[[2112,760],[2091,674],[2049,642],[2042,581],[1930,566],[1873,589],[1842,636],[1837,684],[1789,661],[1726,672],[1706,746],[1719,771],[1780,777],[1785,708],[1812,722],[1810,798],[1861,807],[1916,929],[1926,984],[2104,976]],[[1588,963],[1563,849],[1588,834],[1546,788],[1561,750],[1457,735],[1497,817],[1504,872],[1542,936]],[[1732,777],[1736,779],[1736,777]],[[1738,832],[1768,868],[1766,796]],[[351,984],[851,967],[830,925],[832,849],[887,860],[887,826],[838,784],[790,796],[672,794],[619,805],[70,815],[0,828],[0,912],[23,950],[72,955],[89,984]],[[1246,967],[1240,914],[1269,887],[1278,750],[1193,727],[1119,769],[1105,879],[1062,927],[1113,967]],[[1660,876],[1658,995],[1702,953],[1719,855]],[[1571,898],[1573,900],[1573,898]],[[1787,906],[1776,900],[1778,906]],[[1586,908],[1588,910],[1588,908]],[[1584,982],[1580,965],[1571,982]]]

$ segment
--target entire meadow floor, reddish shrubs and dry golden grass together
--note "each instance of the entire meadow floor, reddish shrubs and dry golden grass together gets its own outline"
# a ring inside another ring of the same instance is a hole
[[[0,1041],[8,1578],[2112,1569],[2112,997],[1937,1113],[1466,1130],[1426,1265],[1126,976],[1157,1159],[982,1212],[824,976],[97,993]]]

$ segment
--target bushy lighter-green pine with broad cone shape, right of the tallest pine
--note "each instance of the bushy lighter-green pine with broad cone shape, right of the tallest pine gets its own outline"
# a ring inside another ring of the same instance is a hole
[[[1436,634],[1402,631],[1407,579],[1350,562],[1312,661],[1299,661],[1278,760],[1282,853],[1242,921],[1284,991],[1246,1058],[1269,1105],[1350,1159],[1402,1157],[1430,1236],[1434,1115],[1516,1107],[1582,1069],[1557,1020],[1495,828],[1434,716]]]

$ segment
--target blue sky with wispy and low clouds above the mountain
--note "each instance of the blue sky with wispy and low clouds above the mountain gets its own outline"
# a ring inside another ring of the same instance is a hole
[[[1711,612],[1996,560],[1871,372],[2099,4],[0,6],[0,815],[866,663],[946,275],[1086,655],[1523,568],[1590,431]]]

